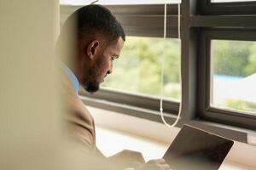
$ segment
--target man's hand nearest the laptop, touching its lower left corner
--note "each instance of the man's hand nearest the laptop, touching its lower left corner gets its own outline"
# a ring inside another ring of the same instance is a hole
[[[138,167],[137,170],[170,170],[170,166],[166,163],[164,159],[150,160]]]

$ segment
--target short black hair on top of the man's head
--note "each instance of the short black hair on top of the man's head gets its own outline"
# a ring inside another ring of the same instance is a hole
[[[89,40],[96,35],[103,35],[108,42],[117,40],[118,37],[125,41],[123,27],[110,10],[102,5],[91,4],[76,10],[62,26],[61,34],[66,34],[66,27],[72,25],[78,38]]]

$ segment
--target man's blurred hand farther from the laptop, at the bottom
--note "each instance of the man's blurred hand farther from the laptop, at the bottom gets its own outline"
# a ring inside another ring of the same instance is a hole
[[[122,150],[119,153],[108,157],[108,161],[121,163],[125,167],[140,167],[145,163],[142,153],[133,150]]]

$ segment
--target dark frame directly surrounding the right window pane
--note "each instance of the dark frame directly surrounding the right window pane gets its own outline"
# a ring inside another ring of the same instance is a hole
[[[256,129],[256,116],[211,107],[211,41],[241,40],[256,41],[256,31],[239,29],[204,29],[201,31],[201,60],[199,61],[200,91],[199,115],[204,120],[223,122],[236,127]]]

